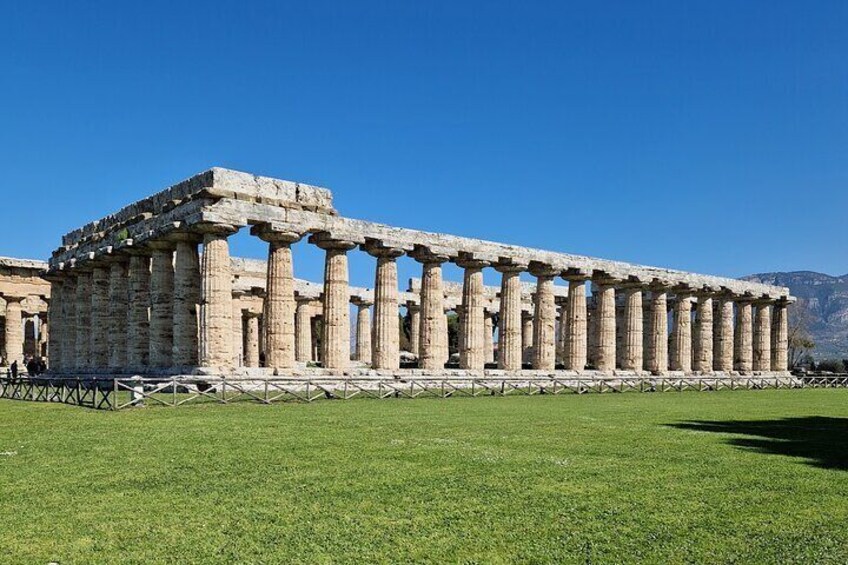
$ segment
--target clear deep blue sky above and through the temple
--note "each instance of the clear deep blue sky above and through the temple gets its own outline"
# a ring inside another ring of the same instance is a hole
[[[0,255],[46,258],[222,166],[392,225],[734,277],[848,272],[848,2],[0,6]],[[308,247],[296,274],[320,280]]]

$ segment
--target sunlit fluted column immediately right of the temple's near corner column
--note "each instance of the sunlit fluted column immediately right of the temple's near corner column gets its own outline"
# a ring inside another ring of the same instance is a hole
[[[295,363],[295,300],[293,243],[301,233],[277,230],[272,225],[256,226],[251,233],[268,242],[268,276],[266,283],[264,334],[265,365],[291,368]]]

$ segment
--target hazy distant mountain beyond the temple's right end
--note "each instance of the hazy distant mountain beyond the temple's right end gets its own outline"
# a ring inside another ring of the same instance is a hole
[[[812,271],[761,273],[743,280],[789,287],[798,303],[790,311],[803,320],[816,342],[816,359],[848,359],[848,275],[832,277]]]

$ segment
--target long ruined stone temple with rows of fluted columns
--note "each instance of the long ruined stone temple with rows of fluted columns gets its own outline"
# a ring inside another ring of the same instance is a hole
[[[230,257],[228,238],[248,226],[267,242],[267,263]],[[325,252],[320,283],[293,277],[291,246],[302,238]],[[373,289],[348,283],[356,251],[375,259]],[[403,255],[421,264],[406,290]],[[447,262],[464,270],[461,284],[442,280]],[[483,269],[500,273],[498,288],[483,284]],[[325,188],[220,168],[66,234],[40,274],[49,287],[0,286],[6,350],[15,357],[26,341],[9,330],[22,323],[21,299],[38,320],[49,304],[49,333],[38,335],[57,375],[788,369],[786,288],[347,218]],[[399,346],[401,309],[409,352]],[[458,368],[446,368],[449,311],[459,315]]]

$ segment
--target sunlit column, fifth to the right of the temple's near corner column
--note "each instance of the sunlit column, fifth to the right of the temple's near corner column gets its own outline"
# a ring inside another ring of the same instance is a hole
[[[471,371],[482,371],[486,364],[483,267],[489,263],[463,258],[457,261],[457,265],[465,269],[462,283],[459,366]]]

